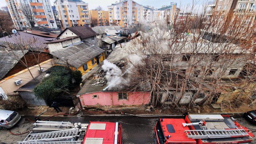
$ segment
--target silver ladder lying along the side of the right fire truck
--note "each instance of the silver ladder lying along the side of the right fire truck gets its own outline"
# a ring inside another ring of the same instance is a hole
[[[204,138],[229,138],[244,137],[251,133],[249,129],[203,129],[203,130],[185,130],[188,138],[204,139]]]

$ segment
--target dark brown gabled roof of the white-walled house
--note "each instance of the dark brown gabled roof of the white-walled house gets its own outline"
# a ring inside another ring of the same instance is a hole
[[[81,39],[97,35],[97,33],[93,31],[90,27],[80,26],[80,27],[67,27],[63,32],[59,34],[59,36],[62,35],[67,29],[72,31],[76,35],[80,36]]]

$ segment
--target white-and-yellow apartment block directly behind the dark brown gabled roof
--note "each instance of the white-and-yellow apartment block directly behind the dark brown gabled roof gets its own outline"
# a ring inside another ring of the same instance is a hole
[[[81,0],[55,0],[54,5],[62,28],[89,26],[90,12],[88,4]]]

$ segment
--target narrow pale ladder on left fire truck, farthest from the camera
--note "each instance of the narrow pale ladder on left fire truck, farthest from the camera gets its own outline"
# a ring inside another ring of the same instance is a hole
[[[35,127],[70,127],[74,124],[71,122],[36,121],[33,125]]]

